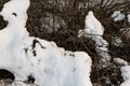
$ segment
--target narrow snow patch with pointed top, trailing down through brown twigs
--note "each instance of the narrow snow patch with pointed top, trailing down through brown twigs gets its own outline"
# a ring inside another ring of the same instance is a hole
[[[104,27],[102,24],[96,19],[96,17],[93,15],[93,12],[90,11],[88,15],[86,16],[86,22],[84,22],[84,29],[79,30],[78,37],[87,37],[93,40],[95,51],[101,57],[101,66],[106,67],[109,60],[110,56],[108,54],[108,43],[102,38],[104,33]],[[104,64],[102,64],[104,63]]]

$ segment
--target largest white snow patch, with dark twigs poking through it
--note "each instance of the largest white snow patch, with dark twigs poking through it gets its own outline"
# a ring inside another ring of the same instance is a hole
[[[92,86],[87,53],[67,52],[54,42],[29,37],[25,28],[28,6],[29,0],[11,0],[0,12],[9,23],[0,30],[0,69],[12,72],[15,80],[31,75],[40,86]]]

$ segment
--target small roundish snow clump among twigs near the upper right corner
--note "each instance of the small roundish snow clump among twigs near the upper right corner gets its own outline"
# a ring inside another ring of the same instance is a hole
[[[113,14],[112,14],[112,17],[114,18],[115,22],[118,22],[118,20],[122,20],[125,19],[125,14],[122,14],[120,11],[115,11]]]

